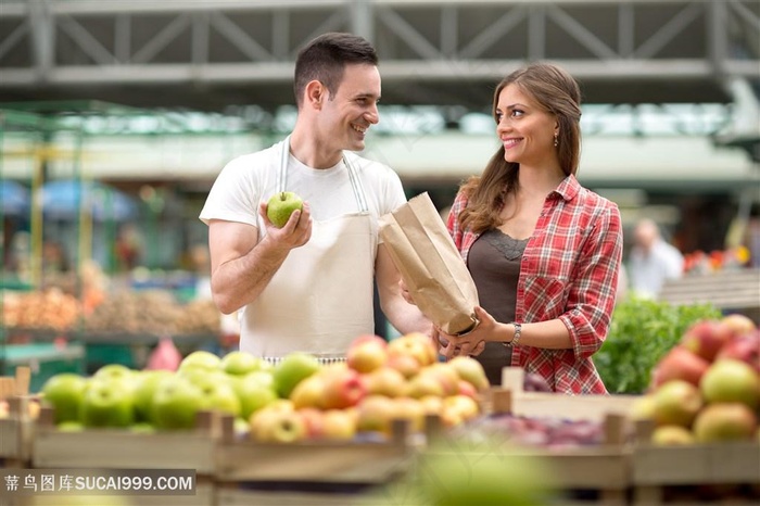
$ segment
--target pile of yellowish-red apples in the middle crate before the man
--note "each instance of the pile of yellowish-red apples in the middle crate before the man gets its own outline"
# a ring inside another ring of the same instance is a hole
[[[435,346],[421,333],[390,342],[359,336],[346,360],[330,365],[291,353],[273,376],[280,399],[250,417],[255,441],[352,440],[359,433],[388,438],[394,419],[421,431],[427,415],[455,427],[480,415],[480,394],[489,388],[479,362],[439,363]]]

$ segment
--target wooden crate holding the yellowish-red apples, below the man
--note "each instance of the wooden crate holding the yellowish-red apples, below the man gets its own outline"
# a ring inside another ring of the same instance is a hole
[[[411,465],[416,452],[411,441],[408,422],[398,420],[388,441],[259,443],[236,437],[232,418],[223,417],[215,458],[217,505],[353,504],[355,493],[330,492],[331,485],[338,491],[359,490],[390,482]],[[273,483],[281,484],[281,490],[256,486]],[[304,492],[300,483],[326,485],[327,492]]]

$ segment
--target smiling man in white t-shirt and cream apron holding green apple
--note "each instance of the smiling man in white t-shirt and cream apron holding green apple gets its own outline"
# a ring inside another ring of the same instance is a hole
[[[351,152],[364,150],[379,121],[377,65],[360,37],[330,33],[309,42],[295,63],[292,134],[232,160],[208,194],[200,217],[208,225],[213,298],[225,314],[242,308],[243,351],[343,356],[354,338],[373,333],[373,279],[400,332],[431,331],[402,298],[378,239],[378,218],[406,201],[401,180]],[[305,204],[276,228],[266,202],[280,191]]]

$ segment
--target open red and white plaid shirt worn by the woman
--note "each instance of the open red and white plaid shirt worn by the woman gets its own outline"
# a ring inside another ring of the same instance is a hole
[[[448,231],[467,262],[479,235],[463,230],[458,216],[467,206],[459,193],[448,215]],[[559,318],[572,349],[517,345],[512,366],[535,372],[556,392],[607,393],[592,355],[607,337],[615,308],[623,248],[618,206],[568,176],[544,202],[520,264],[516,321]]]

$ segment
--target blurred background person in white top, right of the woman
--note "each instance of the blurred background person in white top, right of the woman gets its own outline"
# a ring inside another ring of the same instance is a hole
[[[667,279],[683,275],[683,254],[662,239],[657,224],[648,218],[638,222],[629,258],[631,290],[654,299]]]

